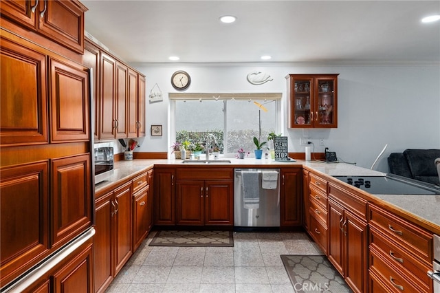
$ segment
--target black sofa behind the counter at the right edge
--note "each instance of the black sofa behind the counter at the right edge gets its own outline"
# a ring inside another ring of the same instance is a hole
[[[434,164],[437,158],[440,158],[440,149],[406,149],[403,153],[391,153],[388,167],[390,173],[440,185]]]

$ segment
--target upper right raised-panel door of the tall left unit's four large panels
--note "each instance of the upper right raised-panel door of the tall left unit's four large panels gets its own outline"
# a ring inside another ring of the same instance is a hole
[[[50,58],[51,142],[89,140],[87,68]]]

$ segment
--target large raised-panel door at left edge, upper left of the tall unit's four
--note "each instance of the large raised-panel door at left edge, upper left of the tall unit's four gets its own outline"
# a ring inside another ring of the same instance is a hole
[[[45,56],[4,38],[0,50],[1,146],[47,143]]]

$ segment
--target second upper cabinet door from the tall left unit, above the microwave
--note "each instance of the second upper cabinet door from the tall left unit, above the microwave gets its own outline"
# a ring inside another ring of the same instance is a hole
[[[116,118],[115,105],[116,61],[111,56],[100,52],[100,123],[99,138],[115,138]]]

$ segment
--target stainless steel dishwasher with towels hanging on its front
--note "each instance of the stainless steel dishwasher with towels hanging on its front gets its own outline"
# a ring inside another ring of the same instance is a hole
[[[234,169],[234,226],[280,226],[280,169]]]

